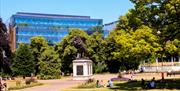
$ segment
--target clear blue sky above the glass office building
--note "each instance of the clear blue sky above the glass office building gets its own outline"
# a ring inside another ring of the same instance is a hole
[[[16,12],[85,15],[109,23],[124,15],[133,4],[129,0],[0,0],[4,22]]]

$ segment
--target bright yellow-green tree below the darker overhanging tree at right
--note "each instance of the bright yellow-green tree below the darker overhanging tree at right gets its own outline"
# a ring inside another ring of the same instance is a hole
[[[154,59],[157,56],[156,52],[162,49],[158,44],[158,38],[147,26],[141,26],[135,31],[114,32],[117,32],[114,39],[118,49],[112,54],[120,61],[120,69],[137,69],[141,61]]]

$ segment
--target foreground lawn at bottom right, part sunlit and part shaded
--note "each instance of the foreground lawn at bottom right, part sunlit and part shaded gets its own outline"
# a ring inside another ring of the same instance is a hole
[[[180,91],[180,79],[165,79],[163,82],[156,80],[156,84],[156,89],[142,89],[141,81],[123,81],[114,82],[113,88],[79,88],[78,86],[61,91]]]

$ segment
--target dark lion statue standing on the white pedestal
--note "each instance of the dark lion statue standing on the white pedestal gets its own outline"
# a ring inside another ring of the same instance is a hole
[[[87,48],[84,44],[85,38],[81,36],[75,36],[72,44],[78,50],[77,59],[87,58]]]

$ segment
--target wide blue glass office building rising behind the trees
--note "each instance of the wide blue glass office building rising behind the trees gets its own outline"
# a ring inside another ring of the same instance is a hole
[[[102,26],[103,21],[91,19],[90,16],[18,12],[12,15],[10,24],[13,26],[10,28],[13,43],[17,47],[21,42],[30,43],[33,36],[44,36],[54,44],[60,42],[71,28],[79,28],[89,33],[92,27]]]

